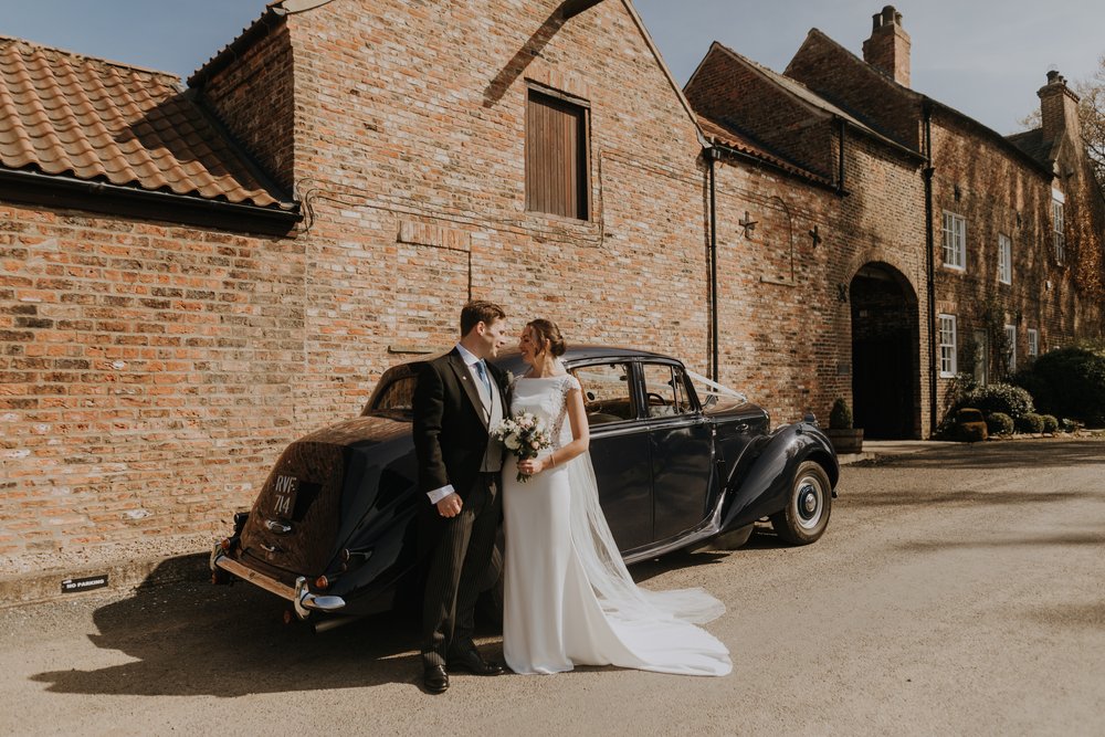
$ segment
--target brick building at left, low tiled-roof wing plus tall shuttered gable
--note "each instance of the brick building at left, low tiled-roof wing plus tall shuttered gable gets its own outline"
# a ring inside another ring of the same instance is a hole
[[[629,2],[290,0],[185,92],[2,52],[4,556],[206,545],[469,297],[708,364],[702,145]]]

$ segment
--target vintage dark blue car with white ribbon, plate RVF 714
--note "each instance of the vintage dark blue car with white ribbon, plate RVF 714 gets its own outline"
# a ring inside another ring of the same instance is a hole
[[[769,518],[779,538],[825,530],[840,466],[815,420],[770,429],[767,412],[667,356],[575,347],[602,509],[627,562],[748,539]],[[504,370],[525,370],[516,351]],[[292,602],[302,619],[357,617],[417,597],[419,504],[411,398],[421,361],[381,377],[361,415],[314,432],[281,455],[233,535],[215,546],[217,582],[244,579]],[[502,559],[485,577],[493,588]]]

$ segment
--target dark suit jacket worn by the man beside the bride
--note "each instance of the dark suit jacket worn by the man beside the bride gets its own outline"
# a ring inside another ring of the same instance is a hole
[[[505,376],[487,365],[507,401]],[[456,348],[423,365],[414,390],[414,448],[418,454],[419,491],[427,493],[452,484],[461,498],[483,465],[488,428],[475,379]],[[504,408],[503,417],[507,412]]]

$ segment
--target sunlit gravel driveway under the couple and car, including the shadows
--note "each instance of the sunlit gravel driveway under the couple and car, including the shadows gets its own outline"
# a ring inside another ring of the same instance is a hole
[[[846,466],[825,537],[634,567],[705,586],[734,673],[418,685],[411,619],[325,634],[245,585],[0,610],[4,734],[1105,734],[1105,442]],[[485,632],[482,647],[497,654]]]

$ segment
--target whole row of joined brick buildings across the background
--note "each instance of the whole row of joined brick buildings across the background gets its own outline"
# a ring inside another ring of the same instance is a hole
[[[967,335],[979,284],[1040,350],[1099,334],[1099,221],[1070,224],[1044,119],[1011,144],[815,31],[786,75],[715,45],[684,96],[629,0],[285,0],[187,88],[0,39],[0,556],[199,549],[469,297],[716,367],[777,421],[882,377],[856,414],[927,435],[934,319]]]

